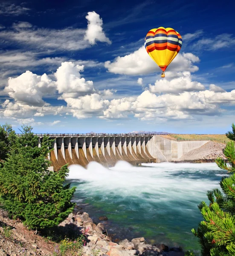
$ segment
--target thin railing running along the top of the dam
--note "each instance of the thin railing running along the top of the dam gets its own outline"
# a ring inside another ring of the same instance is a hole
[[[34,136],[43,137],[44,135],[49,137],[82,137],[82,136],[153,136],[154,134],[145,133],[35,133]],[[17,136],[22,134],[17,133]]]

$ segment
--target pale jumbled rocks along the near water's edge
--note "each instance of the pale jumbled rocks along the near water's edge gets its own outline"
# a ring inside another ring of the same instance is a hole
[[[107,220],[106,216],[99,218]],[[92,252],[97,252],[96,256],[183,256],[181,247],[168,247],[165,244],[147,244],[144,237],[134,238],[131,241],[123,239],[113,242],[107,234],[103,223],[93,223],[87,212],[82,212],[81,207],[76,206],[73,214],[60,225],[73,224],[79,228],[80,232],[86,235],[87,243],[84,246],[84,255],[92,256]]]

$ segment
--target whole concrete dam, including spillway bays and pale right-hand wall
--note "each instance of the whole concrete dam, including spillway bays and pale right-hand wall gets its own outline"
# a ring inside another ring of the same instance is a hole
[[[201,147],[204,141],[173,141],[154,134],[46,134],[54,140],[48,155],[54,171],[68,163],[87,166],[95,161],[114,166],[123,160],[133,165],[175,161]],[[39,137],[38,146],[44,134]]]

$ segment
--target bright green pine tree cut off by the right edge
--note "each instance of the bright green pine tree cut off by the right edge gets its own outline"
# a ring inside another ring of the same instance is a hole
[[[231,140],[223,150],[226,160],[217,158],[217,165],[231,175],[222,177],[219,189],[207,192],[209,206],[201,202],[198,206],[203,215],[197,230],[192,229],[199,239],[202,256],[235,255],[235,125],[226,133]],[[191,253],[191,254],[190,254]],[[192,252],[186,255],[193,255]]]

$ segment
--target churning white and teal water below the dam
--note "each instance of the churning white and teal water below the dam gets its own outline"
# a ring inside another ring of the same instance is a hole
[[[107,169],[89,163],[70,166],[68,180],[76,186],[75,201],[93,205],[112,223],[159,242],[197,247],[191,228],[201,215],[197,205],[207,190],[219,187],[226,172],[215,163],[146,163],[141,167],[120,161]],[[183,240],[183,241],[182,241]],[[197,247],[198,249],[198,247]]]

